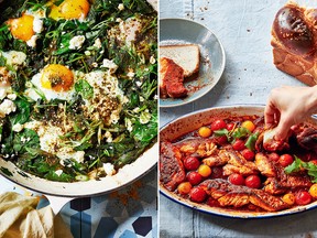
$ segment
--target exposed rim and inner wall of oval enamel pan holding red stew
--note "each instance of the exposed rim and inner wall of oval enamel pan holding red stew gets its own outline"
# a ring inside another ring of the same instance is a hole
[[[193,130],[198,129],[204,125],[211,123],[216,118],[225,119],[232,116],[263,116],[264,106],[254,106],[254,105],[239,105],[239,106],[228,106],[228,107],[219,107],[219,108],[209,108],[199,110],[196,112],[192,112],[185,115],[161,129],[160,140],[161,141],[173,141],[181,136],[184,136]],[[317,126],[317,120],[313,118],[309,119],[310,123]],[[208,205],[201,205],[197,203],[193,203],[188,199],[182,198],[174,193],[167,191],[162,184],[160,184],[160,192],[164,196],[168,197],[175,203],[182,204],[184,206],[190,207],[196,210],[200,210],[207,214],[219,215],[225,217],[234,217],[234,218],[265,218],[265,217],[276,217],[276,216],[285,216],[291,214],[296,214],[299,212],[304,212],[307,209],[316,208],[317,201],[305,206],[297,206],[295,208],[281,210],[281,212],[237,212],[233,209],[225,209],[219,207],[210,207]]]

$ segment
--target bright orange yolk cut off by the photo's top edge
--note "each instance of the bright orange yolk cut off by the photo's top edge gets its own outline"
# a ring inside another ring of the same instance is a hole
[[[51,7],[50,18],[58,19],[85,19],[89,12],[88,0],[65,0],[62,4]]]

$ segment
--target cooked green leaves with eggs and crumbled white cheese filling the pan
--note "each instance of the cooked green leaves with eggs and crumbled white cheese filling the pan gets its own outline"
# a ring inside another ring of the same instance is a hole
[[[46,180],[98,180],[155,142],[157,13],[145,0],[6,4],[1,159]]]

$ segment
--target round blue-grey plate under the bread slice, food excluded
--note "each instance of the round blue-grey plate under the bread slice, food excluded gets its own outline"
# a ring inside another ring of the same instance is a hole
[[[206,26],[185,19],[160,20],[160,45],[197,44],[200,50],[199,75],[185,82],[189,90],[186,98],[160,98],[160,107],[176,107],[192,102],[208,91],[219,82],[225,69],[225,50],[217,36]]]

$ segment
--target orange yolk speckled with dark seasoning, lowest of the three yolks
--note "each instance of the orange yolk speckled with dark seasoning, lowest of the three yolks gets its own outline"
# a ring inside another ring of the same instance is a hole
[[[51,64],[43,69],[41,84],[54,91],[67,91],[74,85],[74,74],[64,65]]]

